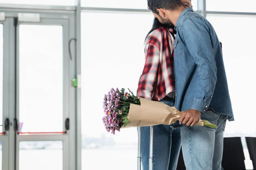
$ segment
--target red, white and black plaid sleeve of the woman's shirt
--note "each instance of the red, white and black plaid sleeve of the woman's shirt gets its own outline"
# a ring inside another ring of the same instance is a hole
[[[160,50],[151,43],[145,45],[145,66],[140,76],[137,96],[151,100],[157,83]]]

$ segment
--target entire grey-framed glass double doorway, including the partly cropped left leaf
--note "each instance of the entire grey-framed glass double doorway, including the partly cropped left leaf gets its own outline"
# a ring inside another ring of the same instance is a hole
[[[74,12],[20,12],[0,17],[0,170],[75,170]]]

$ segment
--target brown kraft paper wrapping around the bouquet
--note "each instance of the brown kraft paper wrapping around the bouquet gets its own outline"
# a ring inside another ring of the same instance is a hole
[[[153,125],[172,125],[177,122],[182,113],[175,107],[161,102],[140,98],[140,105],[130,105],[127,119],[130,121],[125,127],[143,127]],[[196,125],[203,126],[200,120]]]

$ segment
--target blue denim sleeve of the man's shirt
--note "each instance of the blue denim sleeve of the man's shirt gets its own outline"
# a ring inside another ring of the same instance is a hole
[[[196,91],[190,108],[204,113],[209,107],[217,81],[209,27],[203,19],[189,17],[181,27],[180,37],[197,65]]]

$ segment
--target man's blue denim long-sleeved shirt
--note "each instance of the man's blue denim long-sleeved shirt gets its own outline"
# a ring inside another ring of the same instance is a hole
[[[221,45],[212,25],[192,8],[179,16],[175,30],[175,107],[195,109],[233,120]]]

